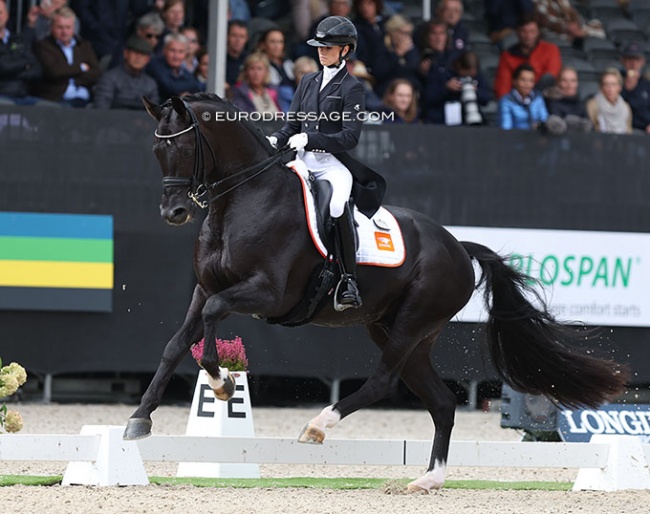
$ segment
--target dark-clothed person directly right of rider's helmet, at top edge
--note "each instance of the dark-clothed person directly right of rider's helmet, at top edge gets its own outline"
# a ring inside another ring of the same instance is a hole
[[[357,59],[363,62],[373,76],[384,76],[387,59],[384,37],[385,20],[382,16],[383,0],[353,0],[352,13],[357,29]]]

